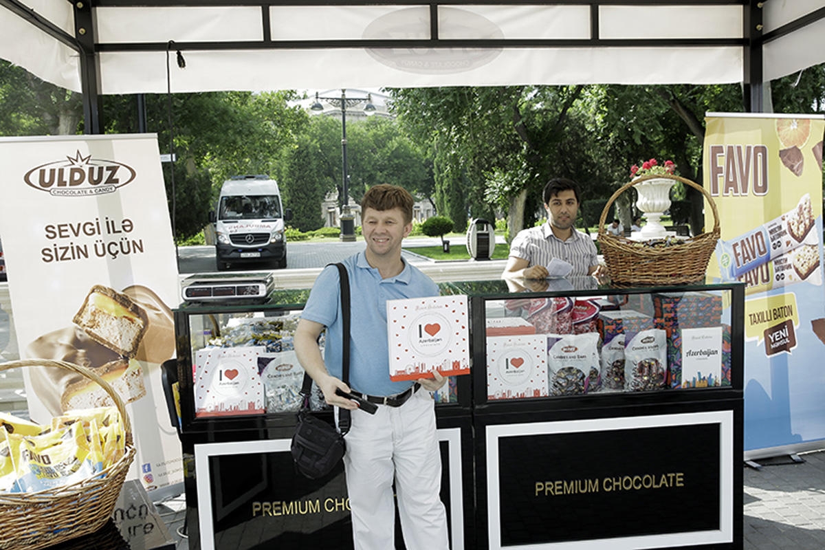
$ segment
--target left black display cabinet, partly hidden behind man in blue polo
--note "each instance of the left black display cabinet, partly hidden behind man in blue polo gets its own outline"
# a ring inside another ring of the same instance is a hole
[[[343,467],[309,480],[290,439],[303,380],[292,337],[309,290],[177,308],[177,378],[192,550],[353,548]],[[469,377],[436,393],[452,548],[474,548]],[[324,411],[314,395],[313,407]],[[403,548],[399,544],[399,548]]]

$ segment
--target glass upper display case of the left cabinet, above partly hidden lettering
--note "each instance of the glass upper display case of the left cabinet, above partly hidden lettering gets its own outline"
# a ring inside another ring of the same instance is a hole
[[[177,308],[184,432],[294,425],[304,369],[293,337],[308,297],[309,289],[279,289],[263,303],[185,303]],[[469,377],[460,378],[448,378],[434,394],[448,415],[449,406],[469,407]],[[327,408],[317,388],[311,405]]]

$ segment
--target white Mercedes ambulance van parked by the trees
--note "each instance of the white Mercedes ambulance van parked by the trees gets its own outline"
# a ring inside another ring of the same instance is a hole
[[[218,270],[253,261],[286,267],[284,229],[292,210],[283,208],[278,184],[269,176],[232,176],[224,181],[210,218],[215,224]]]

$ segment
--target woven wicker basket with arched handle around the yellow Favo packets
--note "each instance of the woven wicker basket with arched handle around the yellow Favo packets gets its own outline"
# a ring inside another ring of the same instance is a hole
[[[129,416],[120,396],[92,370],[53,360],[18,360],[0,364],[0,372],[17,367],[59,367],[91,378],[115,402],[125,431],[125,453],[96,477],[32,493],[0,493],[0,548],[46,548],[101,529],[111,516],[134,458]]]

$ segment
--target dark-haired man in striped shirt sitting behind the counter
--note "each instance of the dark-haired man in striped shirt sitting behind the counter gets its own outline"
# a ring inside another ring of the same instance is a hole
[[[523,229],[510,245],[510,258],[503,277],[544,279],[553,258],[573,266],[571,276],[605,275],[596,258],[592,238],[573,227],[578,213],[578,186],[572,180],[555,178],[542,194],[547,223]]]

